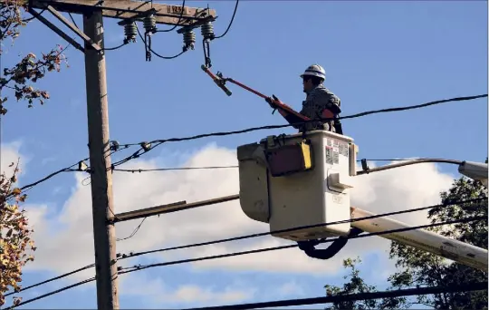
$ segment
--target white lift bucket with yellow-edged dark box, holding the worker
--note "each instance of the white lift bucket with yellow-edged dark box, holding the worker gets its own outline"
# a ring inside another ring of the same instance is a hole
[[[351,176],[357,148],[331,131],[271,136],[237,148],[240,203],[245,215],[269,223],[273,234],[293,241],[346,236]]]

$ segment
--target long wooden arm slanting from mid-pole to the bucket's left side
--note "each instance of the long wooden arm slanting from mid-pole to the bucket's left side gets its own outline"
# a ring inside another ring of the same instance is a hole
[[[151,208],[142,208],[142,209],[135,210],[135,211],[119,213],[119,214],[116,214],[116,216],[112,219],[112,222],[118,223],[118,222],[123,222],[123,221],[131,220],[131,219],[147,218],[147,217],[152,217],[152,216],[156,216],[159,214],[183,211],[183,210],[187,210],[189,208],[197,208],[197,207],[215,205],[218,203],[223,203],[226,201],[231,201],[231,200],[236,200],[236,199],[239,199],[239,195],[219,197],[216,199],[200,200],[200,201],[191,202],[191,203],[187,203],[187,201],[185,201],[185,200],[184,201],[178,201],[178,202],[174,202],[174,203],[171,203],[168,205],[160,205],[160,206],[151,207]]]

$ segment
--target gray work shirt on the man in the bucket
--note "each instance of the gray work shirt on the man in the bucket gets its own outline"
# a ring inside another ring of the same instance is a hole
[[[324,85],[320,84],[313,88],[310,92],[307,92],[307,97],[306,100],[302,102],[302,110],[300,113],[310,119],[321,119],[321,114],[324,109],[329,108],[331,111],[335,111],[334,107],[332,107],[333,104],[340,108],[340,98],[324,87]],[[333,109],[331,109],[331,107]],[[305,125],[305,130],[335,132],[334,121],[313,121]]]

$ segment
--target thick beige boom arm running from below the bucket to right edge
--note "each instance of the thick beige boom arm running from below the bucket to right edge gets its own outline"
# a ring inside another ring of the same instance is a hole
[[[374,213],[369,211],[351,207],[351,219],[374,215]],[[369,218],[351,222],[351,226],[370,233],[410,227],[408,224],[392,218]],[[437,256],[454,260],[465,266],[471,266],[487,272],[488,252],[481,247],[475,247],[425,229],[394,232],[380,235],[379,237],[395,240],[404,245],[416,247]]]

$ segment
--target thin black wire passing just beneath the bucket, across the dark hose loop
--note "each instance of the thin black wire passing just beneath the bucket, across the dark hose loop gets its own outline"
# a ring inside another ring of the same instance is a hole
[[[450,224],[455,224],[455,223],[465,223],[465,222],[470,222],[470,221],[479,220],[479,219],[487,219],[487,217],[461,218],[461,219],[456,219],[456,220],[452,220],[452,221],[446,221],[446,222],[441,222],[441,223],[433,223],[433,224],[415,226],[415,227],[410,227],[410,228],[389,229],[389,230],[379,231],[379,232],[375,232],[375,233],[369,233],[369,234],[365,234],[365,235],[350,237],[350,239],[361,238],[361,237],[381,236],[381,235],[387,235],[387,234],[401,232],[401,231],[416,230],[416,229],[420,229],[420,228],[439,227],[439,226],[450,225]],[[332,241],[334,241],[333,238],[324,240],[324,241],[322,241],[322,243],[332,242]],[[298,246],[297,245],[289,245],[289,246],[283,246],[283,247],[265,247],[265,248],[261,248],[261,249],[251,250],[251,251],[234,252],[234,253],[218,255],[218,256],[197,257],[197,258],[182,259],[182,260],[170,261],[170,262],[159,263],[159,264],[150,264],[150,265],[146,265],[146,266],[133,266],[133,267],[128,267],[128,268],[120,268],[120,272],[118,272],[118,275],[129,274],[129,273],[134,272],[134,271],[140,271],[140,270],[144,270],[144,269],[147,269],[150,267],[155,267],[155,266],[170,266],[170,265],[185,264],[185,263],[189,263],[189,262],[203,261],[203,260],[216,259],[216,258],[236,257],[236,256],[241,256],[241,255],[246,255],[246,254],[261,253],[261,252],[267,252],[267,251],[273,251],[273,250],[279,250],[279,249],[285,249],[285,248],[292,248],[292,247],[298,247]],[[95,281],[95,277],[91,277],[91,278],[86,279],[84,281],[77,282],[71,286],[64,286],[64,287],[57,289],[53,292],[50,292],[50,293],[47,293],[44,295],[39,295],[39,296],[36,296],[32,299],[25,300],[24,302],[22,302],[19,305],[26,305],[26,304],[32,303],[36,300],[43,299],[43,298],[48,297],[50,295],[55,295],[55,294],[61,293],[62,291],[71,289],[72,287],[81,286],[83,284],[90,283],[92,281]]]

